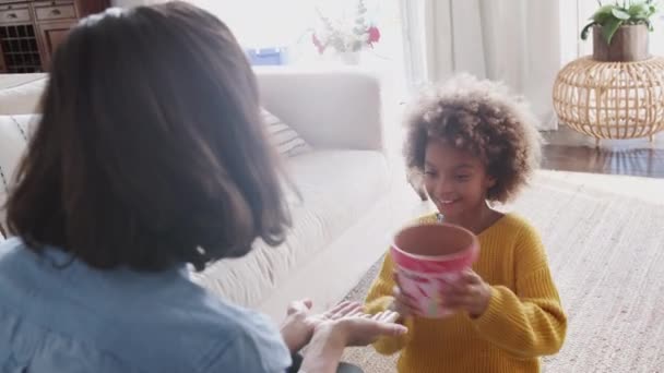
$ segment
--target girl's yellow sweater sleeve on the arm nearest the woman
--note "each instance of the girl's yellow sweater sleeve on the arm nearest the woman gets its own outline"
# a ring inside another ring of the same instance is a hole
[[[367,294],[365,312],[369,314],[376,314],[381,311],[389,309],[394,301],[392,297],[392,289],[394,288],[394,265],[392,263],[392,256],[388,252],[382,262],[382,267],[378,277],[374,280],[371,288]],[[413,330],[412,317],[405,317],[400,321],[403,325],[408,328],[406,334],[394,337],[381,337],[375,344],[374,348],[376,351],[382,354],[392,354],[403,349],[411,339]]]

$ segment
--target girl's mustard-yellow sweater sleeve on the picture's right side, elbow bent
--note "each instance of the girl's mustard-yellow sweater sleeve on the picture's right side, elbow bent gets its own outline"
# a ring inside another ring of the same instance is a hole
[[[567,316],[534,228],[519,232],[514,258],[514,291],[491,287],[487,310],[473,323],[485,339],[514,356],[556,353],[565,340]]]

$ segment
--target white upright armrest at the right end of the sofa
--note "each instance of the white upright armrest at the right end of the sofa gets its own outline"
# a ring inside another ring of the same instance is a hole
[[[383,148],[377,77],[347,69],[254,71],[263,106],[313,147]]]

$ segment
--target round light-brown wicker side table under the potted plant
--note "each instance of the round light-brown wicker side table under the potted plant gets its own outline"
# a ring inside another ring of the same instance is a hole
[[[602,139],[650,137],[664,129],[664,58],[568,63],[554,83],[560,122]]]

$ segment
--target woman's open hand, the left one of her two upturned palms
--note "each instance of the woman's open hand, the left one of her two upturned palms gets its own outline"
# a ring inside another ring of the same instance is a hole
[[[310,299],[294,301],[288,305],[286,318],[281,326],[281,334],[292,353],[299,351],[309,342],[313,329],[320,324],[351,314],[356,315],[361,311],[361,303],[342,302],[324,313],[311,315],[312,305]]]

